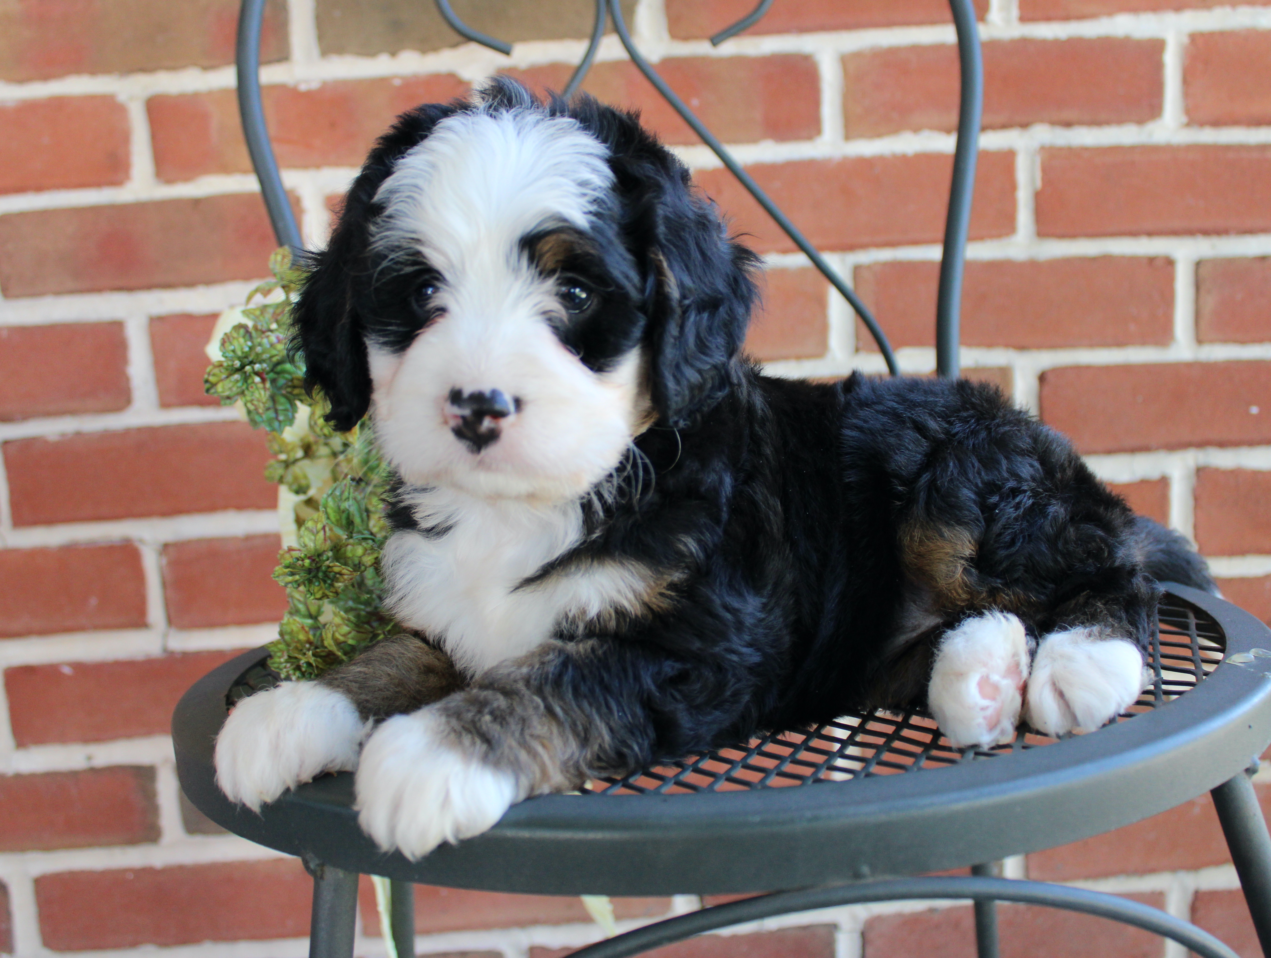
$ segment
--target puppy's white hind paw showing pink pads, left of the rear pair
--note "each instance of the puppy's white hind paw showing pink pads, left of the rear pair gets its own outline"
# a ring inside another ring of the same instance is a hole
[[[991,748],[1014,737],[1027,677],[1023,623],[1009,612],[986,612],[941,639],[927,704],[953,746]]]

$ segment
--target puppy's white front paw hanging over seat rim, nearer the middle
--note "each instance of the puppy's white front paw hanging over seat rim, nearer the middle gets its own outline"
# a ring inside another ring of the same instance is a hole
[[[362,831],[412,860],[491,828],[517,798],[512,775],[464,755],[428,709],[375,729],[357,770]]]

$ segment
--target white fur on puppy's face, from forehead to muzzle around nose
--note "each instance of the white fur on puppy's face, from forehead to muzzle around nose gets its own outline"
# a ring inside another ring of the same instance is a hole
[[[618,464],[638,356],[596,374],[566,349],[548,324],[564,318],[555,285],[521,249],[544,227],[586,230],[611,182],[605,147],[573,119],[515,111],[447,117],[384,182],[376,246],[418,249],[441,276],[440,315],[405,352],[370,344],[376,436],[408,483],[561,502]],[[479,454],[445,418],[454,389],[520,403]]]

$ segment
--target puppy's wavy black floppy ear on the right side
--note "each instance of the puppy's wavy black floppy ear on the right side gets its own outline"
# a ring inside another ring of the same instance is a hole
[[[656,220],[648,254],[652,400],[669,426],[683,428],[728,388],[755,305],[759,259],[728,238],[686,173],[666,183],[648,211]]]

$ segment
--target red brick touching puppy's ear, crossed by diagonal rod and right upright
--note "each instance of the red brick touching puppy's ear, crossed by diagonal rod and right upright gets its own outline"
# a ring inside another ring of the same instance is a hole
[[[1014,233],[1014,163],[1012,152],[980,154],[974,239]],[[747,172],[813,246],[845,250],[939,241],[952,169],[947,154],[915,154],[759,164]],[[731,173],[700,170],[697,180],[747,245],[763,253],[796,249]]]

